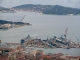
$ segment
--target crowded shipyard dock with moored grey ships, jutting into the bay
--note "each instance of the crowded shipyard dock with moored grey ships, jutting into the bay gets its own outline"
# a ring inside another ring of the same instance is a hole
[[[50,39],[33,39],[30,35],[26,38],[21,39],[21,44],[25,47],[37,47],[37,48],[80,48],[80,44],[75,43],[71,40],[65,39],[63,37],[52,37]]]

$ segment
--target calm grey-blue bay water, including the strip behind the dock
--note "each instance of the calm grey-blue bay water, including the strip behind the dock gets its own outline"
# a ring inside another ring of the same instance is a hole
[[[0,13],[0,19],[8,21],[21,21],[23,16],[26,15],[23,22],[29,22],[32,26],[23,26],[20,28],[12,28],[9,30],[0,30],[0,39],[3,43],[6,42],[20,42],[20,39],[31,35],[33,38],[47,39],[53,36],[60,37],[64,35],[66,28],[67,39],[75,41],[80,39],[80,15],[45,15],[35,12],[18,12],[18,13]],[[63,36],[64,37],[64,36]],[[80,55],[80,49],[53,49],[46,50],[52,52],[71,52],[71,55]]]

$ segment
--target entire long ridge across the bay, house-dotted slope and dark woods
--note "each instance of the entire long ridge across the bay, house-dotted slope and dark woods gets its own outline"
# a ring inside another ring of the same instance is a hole
[[[25,4],[13,7],[13,9],[18,11],[31,11],[31,12],[41,12],[43,14],[56,14],[56,15],[80,15],[80,9],[63,7],[59,5],[33,5]]]

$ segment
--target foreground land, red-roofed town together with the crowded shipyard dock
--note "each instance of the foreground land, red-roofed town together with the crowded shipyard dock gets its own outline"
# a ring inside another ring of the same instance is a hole
[[[21,39],[20,43],[2,43],[0,40],[0,60],[80,60],[80,56],[63,53],[44,53],[35,48],[80,48],[80,44],[65,38],[33,39],[30,35]]]

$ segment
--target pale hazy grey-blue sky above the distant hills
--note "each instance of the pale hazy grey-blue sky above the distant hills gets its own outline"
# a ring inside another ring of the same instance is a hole
[[[80,8],[80,0],[0,0],[0,6],[13,7],[22,4],[62,5]]]

